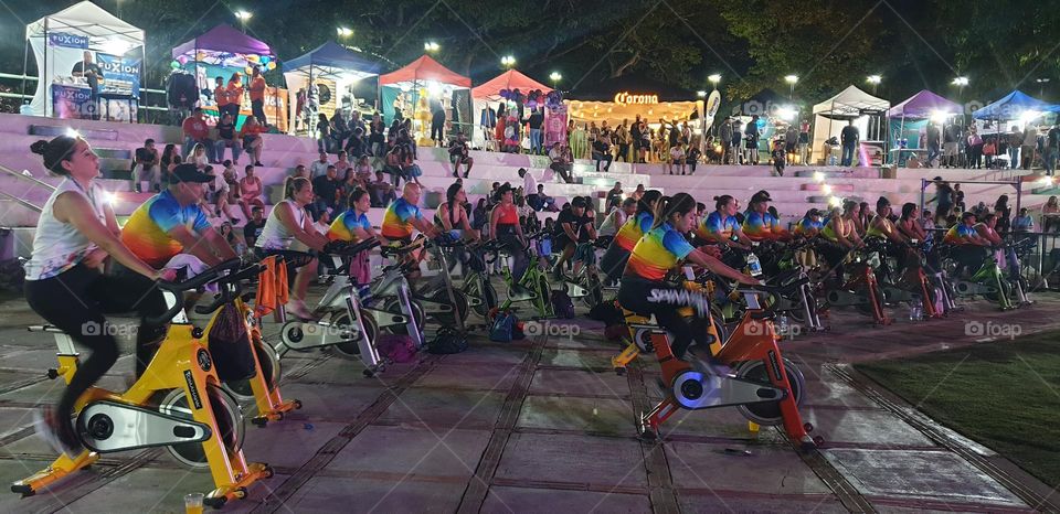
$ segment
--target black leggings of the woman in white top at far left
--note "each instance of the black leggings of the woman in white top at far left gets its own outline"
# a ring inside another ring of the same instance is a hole
[[[117,326],[104,314],[135,311],[140,317],[136,333],[136,375],[140,376],[157,350],[152,343],[166,335],[168,325],[149,325],[146,318],[166,312],[166,299],[155,282],[142,275],[108,276],[77,265],[43,280],[26,280],[25,301],[41,318],[66,332],[92,354],[77,366],[59,400],[59,415],[68,416],[77,398],[118,360]],[[65,419],[65,418],[62,418]]]

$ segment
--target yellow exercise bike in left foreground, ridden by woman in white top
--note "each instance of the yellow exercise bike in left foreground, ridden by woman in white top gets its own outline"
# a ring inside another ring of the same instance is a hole
[[[180,313],[183,291],[210,282],[219,282],[224,290],[229,283],[257,272],[257,265],[244,270],[241,267],[240,259],[232,259],[182,282],[159,282],[158,287],[176,296],[176,301],[169,311],[150,321],[167,322]],[[68,384],[80,363],[70,336],[49,325],[31,326],[30,331],[54,333],[59,367],[50,370],[49,377],[62,376]],[[60,456],[46,469],[14,482],[11,491],[31,496],[87,468],[103,453],[165,447],[181,464],[210,469],[215,489],[206,494],[206,505],[220,507],[229,500],[246,497],[247,488],[272,476],[273,470],[244,460],[243,414],[218,378],[204,333],[189,323],[174,323],[144,375],[128,390],[88,388],[74,407],[75,430],[85,450],[74,457]],[[161,400],[153,407],[159,396]]]

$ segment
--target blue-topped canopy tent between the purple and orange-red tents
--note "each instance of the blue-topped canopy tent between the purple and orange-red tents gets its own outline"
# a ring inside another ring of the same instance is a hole
[[[354,88],[364,78],[379,75],[380,65],[333,41],[328,41],[309,53],[284,63],[284,79],[287,82],[290,119],[298,119],[298,94],[312,84],[316,105],[306,105],[309,117],[316,113],[331,116],[337,108],[354,108]],[[371,98],[374,100],[374,92]],[[308,97],[307,97],[308,99]],[[347,101],[348,100],[348,101]],[[310,104],[310,103],[307,103]],[[288,132],[295,132],[290,124]],[[310,121],[307,128],[315,124]]]

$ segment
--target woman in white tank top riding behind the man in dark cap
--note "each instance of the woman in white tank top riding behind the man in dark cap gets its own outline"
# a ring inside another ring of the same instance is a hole
[[[294,292],[287,304],[287,312],[304,320],[312,318],[306,307],[306,293],[309,290],[309,280],[317,276],[317,259],[304,251],[292,250],[290,244],[297,240],[317,251],[324,250],[324,245],[328,244],[328,238],[314,228],[312,219],[306,214],[306,205],[310,203],[312,183],[309,179],[287,179],[284,201],[273,207],[255,244],[255,253],[259,257],[284,256],[287,261],[287,276],[295,275]]]

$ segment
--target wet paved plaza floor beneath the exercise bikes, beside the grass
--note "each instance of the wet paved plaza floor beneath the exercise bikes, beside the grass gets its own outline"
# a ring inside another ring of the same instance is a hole
[[[471,338],[457,355],[423,353],[375,378],[326,352],[283,361],[286,398],[304,407],[266,428],[247,424],[251,461],[276,475],[229,512],[1034,512],[1040,484],[987,449],[932,424],[848,364],[975,344],[968,322],[1060,326],[1060,297],[1013,312],[977,302],[952,319],[873,329],[835,312],[830,331],[784,341],[806,377],[804,420],[824,437],[796,451],[780,430],[749,430],[734,408],[679,411],[662,442],[636,421],[660,397],[658,364],[642,356],[618,376],[617,343],[579,320],[576,336],[516,343]],[[898,313],[895,313],[898,315]],[[474,318],[474,314],[473,314]],[[561,321],[556,321],[558,323]],[[63,384],[49,335],[24,302],[0,303],[0,479],[45,467],[53,453],[31,432],[32,411]],[[278,326],[266,325],[266,335]],[[988,334],[987,334],[988,335]],[[128,349],[126,349],[128,350]],[[119,361],[104,378],[120,388]],[[246,411],[253,406],[247,405]],[[1003,470],[1003,471],[999,471]],[[0,495],[0,512],[180,512],[188,492],[212,489],[163,449],[107,454],[36,496]]]

